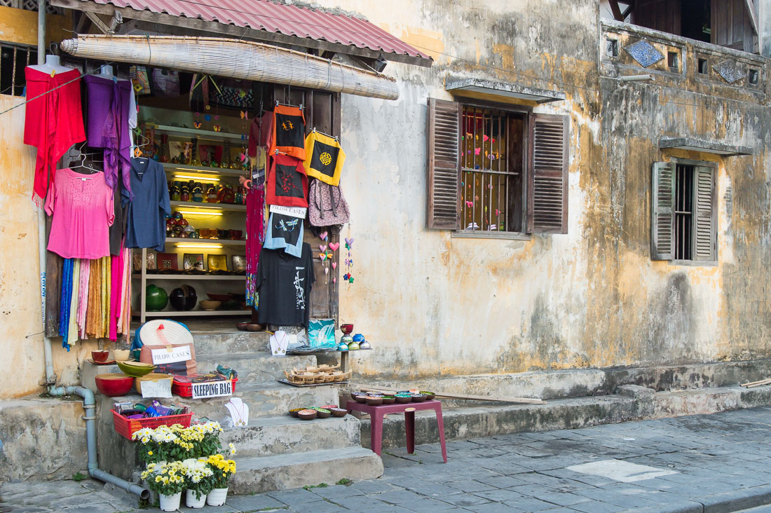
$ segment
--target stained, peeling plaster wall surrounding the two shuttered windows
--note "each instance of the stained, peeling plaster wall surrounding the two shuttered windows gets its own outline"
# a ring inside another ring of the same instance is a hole
[[[342,99],[355,282],[340,287],[340,317],[376,349],[356,356],[356,370],[418,377],[771,354],[769,116],[751,97],[602,78],[593,0],[320,3],[361,12],[435,59],[429,69],[389,63],[399,100]],[[447,76],[567,94],[534,108],[571,119],[567,235],[425,228],[426,97],[451,100]],[[658,138],[673,134],[757,153],[662,153]],[[672,157],[719,163],[718,265],[650,259],[651,164]]]

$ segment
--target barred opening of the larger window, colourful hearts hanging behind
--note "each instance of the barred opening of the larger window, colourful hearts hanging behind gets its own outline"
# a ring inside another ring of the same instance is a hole
[[[462,116],[461,228],[469,231],[508,231],[510,170],[507,158],[508,115],[465,107]],[[476,225],[476,227],[475,227]]]

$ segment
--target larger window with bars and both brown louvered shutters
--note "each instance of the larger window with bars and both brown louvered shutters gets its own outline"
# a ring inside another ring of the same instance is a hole
[[[567,233],[565,116],[429,98],[429,228]]]

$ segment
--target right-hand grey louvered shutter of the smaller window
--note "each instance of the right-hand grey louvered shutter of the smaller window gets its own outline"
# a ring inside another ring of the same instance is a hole
[[[715,168],[696,166],[694,169],[693,197],[695,222],[693,224],[693,259],[717,260],[717,222],[715,211]]]

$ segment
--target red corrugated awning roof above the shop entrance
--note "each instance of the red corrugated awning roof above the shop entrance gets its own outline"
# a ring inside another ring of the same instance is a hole
[[[51,0],[51,4],[104,15],[118,10],[128,19],[371,58],[382,56],[420,66],[433,62],[365,19],[269,0]]]

